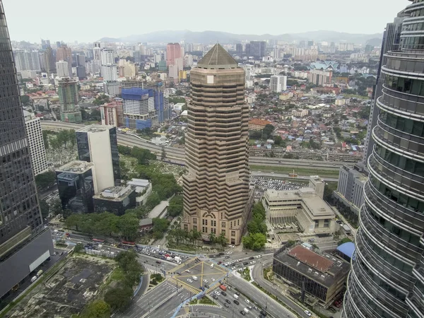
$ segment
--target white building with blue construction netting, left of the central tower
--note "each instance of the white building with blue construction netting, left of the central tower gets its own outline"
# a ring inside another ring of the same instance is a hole
[[[133,129],[155,128],[171,118],[172,108],[163,93],[162,83],[122,82],[124,125]]]

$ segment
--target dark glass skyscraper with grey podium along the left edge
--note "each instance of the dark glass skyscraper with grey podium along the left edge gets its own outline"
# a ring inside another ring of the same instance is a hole
[[[54,252],[38,206],[18,79],[0,1],[0,299]]]

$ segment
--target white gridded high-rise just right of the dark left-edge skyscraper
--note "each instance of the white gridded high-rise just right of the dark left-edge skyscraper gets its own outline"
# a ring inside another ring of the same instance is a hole
[[[33,163],[34,175],[40,175],[48,170],[46,149],[42,138],[40,118],[35,117],[32,112],[23,111],[25,117],[25,129],[30,146],[31,162]]]

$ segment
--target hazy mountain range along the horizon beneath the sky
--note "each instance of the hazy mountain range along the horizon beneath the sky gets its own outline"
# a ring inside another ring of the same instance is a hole
[[[218,31],[203,31],[192,32],[189,30],[181,31],[156,31],[141,35],[129,35],[126,37],[102,37],[100,42],[124,42],[124,43],[138,43],[138,42],[179,42],[184,40],[186,43],[203,43],[213,44],[220,43],[235,43],[241,41],[254,41],[254,40],[280,40],[285,42],[292,42],[294,40],[314,40],[317,42],[353,42],[355,44],[365,45],[371,40],[373,45],[379,45],[382,42],[382,33],[375,34],[356,34],[356,33],[341,33],[336,31],[312,31],[305,33],[285,33],[281,35],[248,35],[248,34],[235,34]],[[377,44],[376,44],[377,43]],[[370,43],[371,44],[371,43]]]

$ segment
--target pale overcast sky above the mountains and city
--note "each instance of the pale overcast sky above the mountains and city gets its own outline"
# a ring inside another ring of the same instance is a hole
[[[93,42],[158,30],[382,33],[407,0],[2,0],[11,40]],[[263,6],[261,5],[263,4]],[[179,39],[176,39],[179,40]]]

